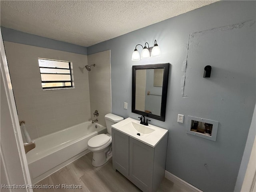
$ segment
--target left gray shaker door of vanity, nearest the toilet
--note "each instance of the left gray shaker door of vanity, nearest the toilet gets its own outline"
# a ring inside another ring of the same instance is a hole
[[[113,168],[121,174],[129,175],[129,136],[112,129]]]

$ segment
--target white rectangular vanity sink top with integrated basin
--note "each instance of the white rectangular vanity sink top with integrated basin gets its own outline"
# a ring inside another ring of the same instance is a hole
[[[139,120],[130,117],[112,125],[112,128],[151,147],[155,147],[168,132],[166,129],[151,124],[148,126],[142,125]]]

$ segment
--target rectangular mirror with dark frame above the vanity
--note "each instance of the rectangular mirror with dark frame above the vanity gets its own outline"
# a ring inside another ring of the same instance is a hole
[[[132,66],[132,112],[165,121],[170,63]]]

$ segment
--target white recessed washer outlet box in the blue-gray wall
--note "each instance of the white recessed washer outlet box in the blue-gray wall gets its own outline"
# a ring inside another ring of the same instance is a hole
[[[187,133],[216,141],[218,121],[188,116]]]

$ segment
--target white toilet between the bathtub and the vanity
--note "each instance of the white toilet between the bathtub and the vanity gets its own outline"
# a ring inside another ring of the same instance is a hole
[[[96,135],[88,141],[88,149],[93,152],[92,165],[94,167],[102,166],[112,157],[111,125],[123,119],[124,118],[112,113],[106,114],[105,121],[108,133]]]

